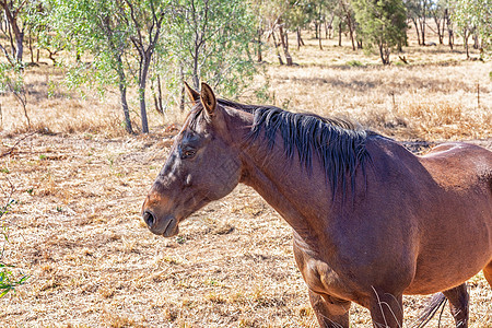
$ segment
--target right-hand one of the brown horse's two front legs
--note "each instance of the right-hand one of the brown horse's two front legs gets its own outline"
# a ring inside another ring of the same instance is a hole
[[[403,327],[403,295],[373,290],[370,298],[371,318],[375,328]]]

